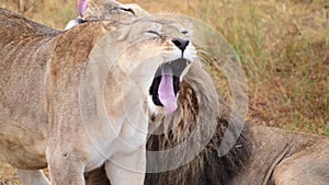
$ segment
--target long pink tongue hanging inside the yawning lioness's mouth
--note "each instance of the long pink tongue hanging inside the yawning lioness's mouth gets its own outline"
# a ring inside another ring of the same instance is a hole
[[[171,68],[161,69],[161,81],[158,89],[159,100],[168,114],[178,107],[173,92],[173,78]]]

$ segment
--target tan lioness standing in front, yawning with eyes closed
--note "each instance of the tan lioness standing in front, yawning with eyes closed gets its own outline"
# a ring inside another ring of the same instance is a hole
[[[80,185],[105,163],[112,184],[143,184],[148,115],[178,108],[190,36],[155,18],[59,32],[0,9],[0,151],[22,182],[49,184],[48,166]]]

